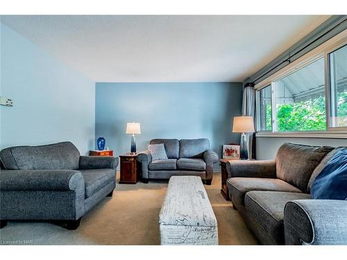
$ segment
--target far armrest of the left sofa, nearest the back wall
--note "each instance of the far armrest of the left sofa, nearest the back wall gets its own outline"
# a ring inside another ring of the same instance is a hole
[[[79,168],[82,170],[112,168],[117,169],[118,157],[112,156],[80,156]]]

